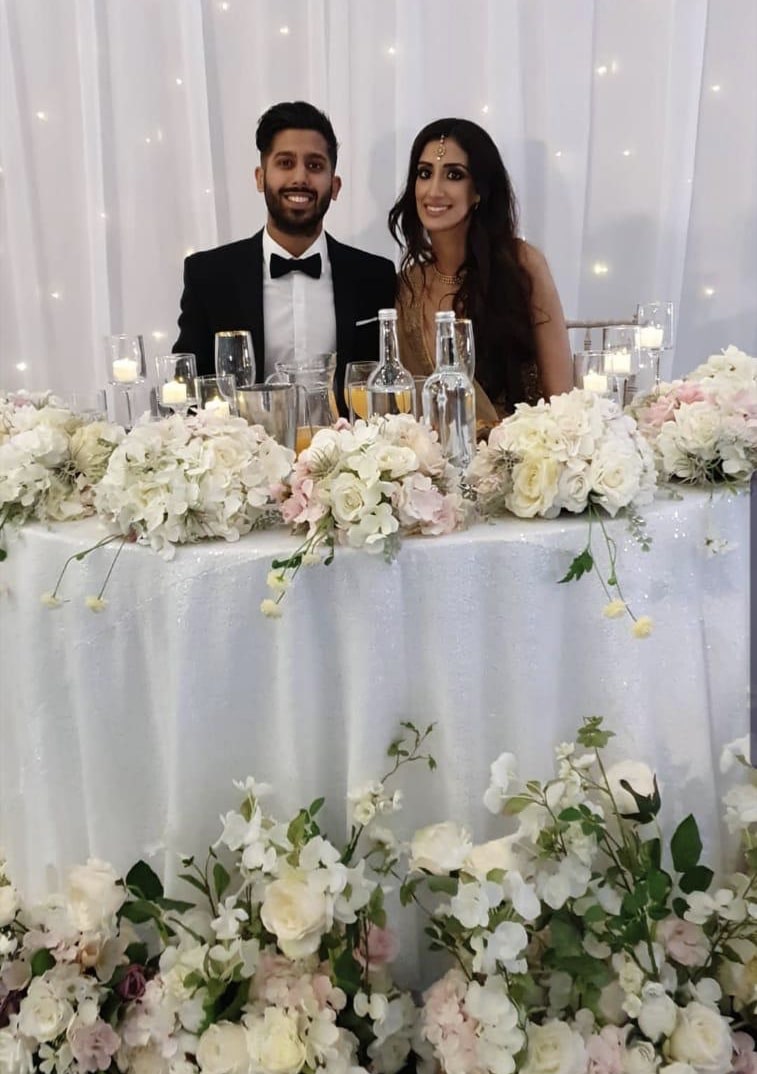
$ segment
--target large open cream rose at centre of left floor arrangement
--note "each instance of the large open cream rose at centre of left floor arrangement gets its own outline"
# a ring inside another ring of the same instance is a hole
[[[331,901],[324,892],[296,874],[268,884],[260,917],[288,958],[304,958],[317,952],[333,919]]]

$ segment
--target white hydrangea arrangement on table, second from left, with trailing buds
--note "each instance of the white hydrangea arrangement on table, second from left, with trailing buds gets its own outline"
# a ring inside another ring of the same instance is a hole
[[[123,540],[137,540],[171,558],[176,545],[238,540],[280,521],[274,493],[293,459],[293,451],[243,418],[201,410],[139,424],[113,452],[94,490],[94,508],[111,531],[94,547],[120,539],[120,551]],[[61,603],[58,592],[70,562],[43,597],[53,607]],[[110,574],[100,593],[87,598],[93,611],[105,606]]]

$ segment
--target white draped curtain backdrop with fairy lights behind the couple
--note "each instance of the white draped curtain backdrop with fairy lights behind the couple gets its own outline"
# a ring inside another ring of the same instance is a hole
[[[672,300],[675,372],[757,352],[755,0],[0,0],[0,387],[103,386],[176,335],[187,252],[250,234],[279,100],[340,142],[336,237],[396,257],[410,143],[484,126],[569,318]]]

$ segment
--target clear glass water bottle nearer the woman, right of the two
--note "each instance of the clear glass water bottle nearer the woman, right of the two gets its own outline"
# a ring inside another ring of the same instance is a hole
[[[436,314],[436,372],[423,386],[423,413],[446,458],[465,469],[476,454],[476,392],[455,342],[452,309]]]

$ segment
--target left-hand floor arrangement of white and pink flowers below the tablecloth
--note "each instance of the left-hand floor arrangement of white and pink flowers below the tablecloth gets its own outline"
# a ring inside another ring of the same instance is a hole
[[[196,905],[165,898],[144,862],[119,881],[90,860],[27,912],[0,862],[3,1074],[395,1074],[414,1004],[388,964],[397,852],[372,829],[399,807],[385,781],[433,766],[430,730],[406,724],[384,779],[351,796],[344,847],[319,829],[323,799],[285,824],[263,809],[270,788],[236,784],[207,861],[184,859]]]

